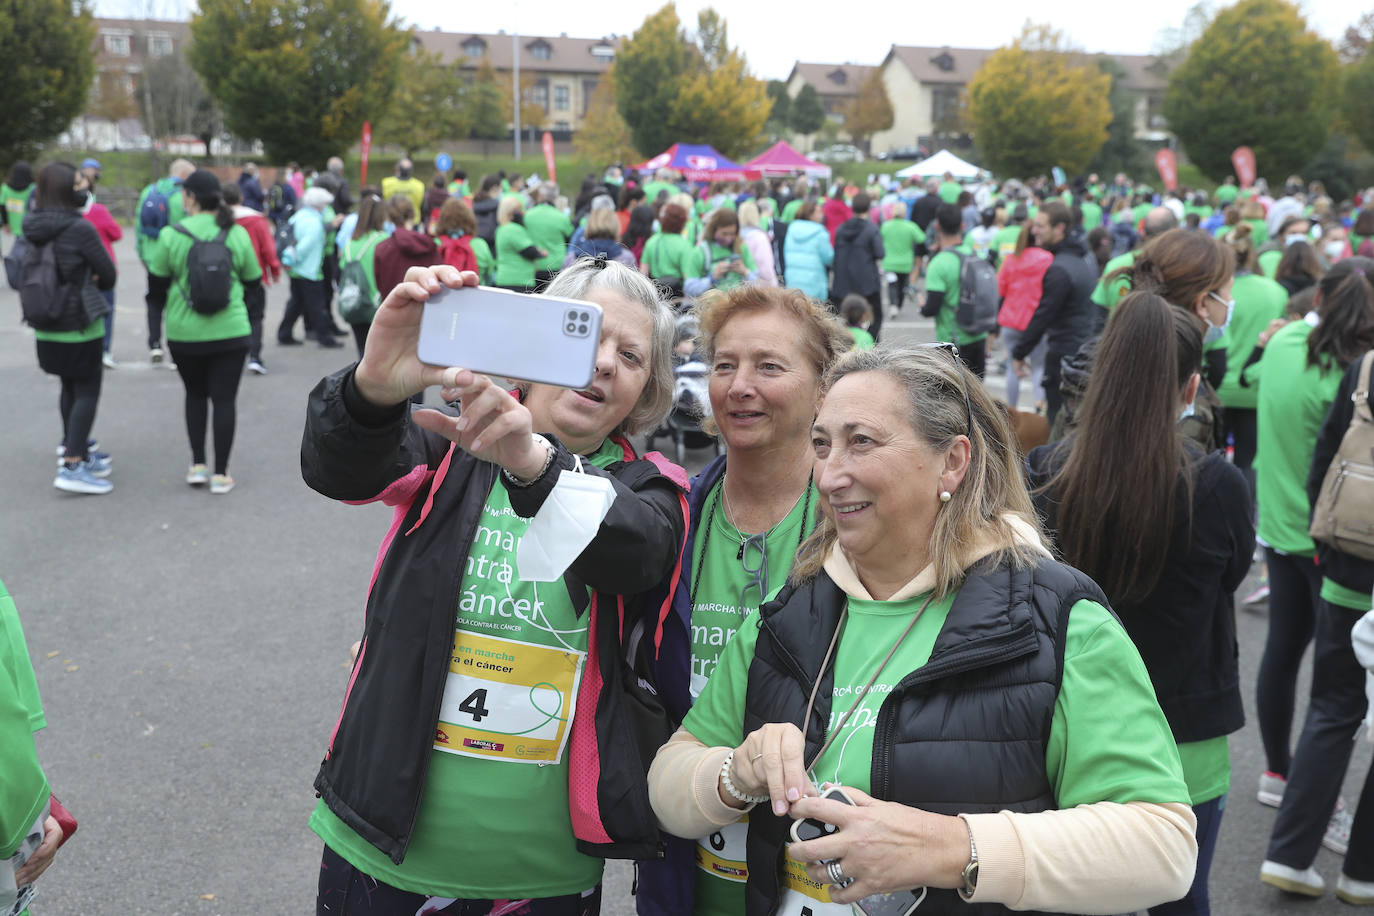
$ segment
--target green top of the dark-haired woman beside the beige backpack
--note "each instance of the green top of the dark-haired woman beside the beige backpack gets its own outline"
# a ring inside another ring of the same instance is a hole
[[[1341,368],[1309,368],[1307,338],[1312,325],[1293,321],[1270,338],[1252,369],[1259,385],[1259,435],[1254,457],[1260,504],[1260,540],[1283,553],[1312,556],[1308,536],[1312,507],[1307,472],[1312,467],[1316,435],[1341,386]]]

